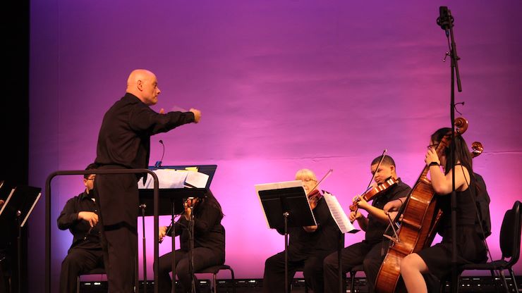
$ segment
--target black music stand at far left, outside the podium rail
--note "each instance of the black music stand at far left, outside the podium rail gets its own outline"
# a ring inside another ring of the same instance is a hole
[[[27,223],[27,220],[35,208],[35,205],[40,199],[42,193],[40,187],[31,187],[21,185],[11,190],[11,193],[6,199],[6,202],[0,209],[0,225],[10,225],[9,220],[17,220],[18,235],[16,237],[16,244],[18,250],[18,292],[21,288],[21,249],[22,249],[22,228]]]

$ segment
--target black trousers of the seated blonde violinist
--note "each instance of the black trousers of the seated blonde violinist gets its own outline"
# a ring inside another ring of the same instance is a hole
[[[324,286],[322,275],[322,261],[326,254],[300,255],[289,250],[288,278],[289,285],[296,274],[297,268],[303,267],[306,285],[314,293],[321,293]],[[290,290],[289,290],[290,291]],[[263,276],[263,292],[277,293],[284,291],[284,251],[270,256],[265,261],[265,275]]]

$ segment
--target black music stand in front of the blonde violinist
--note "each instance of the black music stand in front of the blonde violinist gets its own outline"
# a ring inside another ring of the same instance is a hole
[[[288,292],[288,228],[317,225],[301,180],[256,185],[270,228],[284,227],[284,290]]]

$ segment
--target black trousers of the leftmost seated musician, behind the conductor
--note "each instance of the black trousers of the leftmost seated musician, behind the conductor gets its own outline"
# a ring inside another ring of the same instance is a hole
[[[78,275],[103,266],[102,249],[69,249],[61,262],[60,293],[75,293]]]

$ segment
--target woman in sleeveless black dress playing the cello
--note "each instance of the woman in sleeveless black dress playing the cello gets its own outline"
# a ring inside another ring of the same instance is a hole
[[[487,259],[486,248],[480,235],[475,230],[475,177],[471,153],[466,141],[461,136],[455,137],[455,166],[449,166],[449,146],[446,146],[442,156],[438,156],[435,146],[449,135],[447,128],[437,130],[431,137],[425,156],[429,166],[430,179],[437,194],[437,204],[442,209],[439,234],[442,242],[428,247],[418,253],[408,254],[401,261],[401,276],[408,292],[427,292],[423,273],[435,275],[439,280],[451,273],[451,192],[452,173],[455,173],[455,190],[457,201],[456,235],[457,235],[457,266],[464,263],[480,263]],[[442,168],[441,168],[442,167]],[[470,194],[471,193],[471,194]]]

